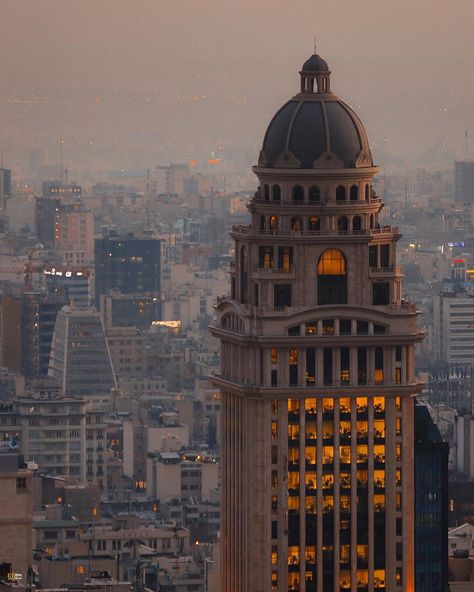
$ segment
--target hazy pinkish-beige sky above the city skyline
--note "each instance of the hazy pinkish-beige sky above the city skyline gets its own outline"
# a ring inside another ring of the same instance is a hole
[[[104,166],[256,150],[313,35],[376,149],[455,152],[464,129],[474,144],[473,0],[2,0],[1,14],[14,160],[59,136],[87,165],[86,145]]]

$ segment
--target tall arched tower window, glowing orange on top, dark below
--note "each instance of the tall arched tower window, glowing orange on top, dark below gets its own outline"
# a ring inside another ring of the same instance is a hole
[[[327,249],[319,257],[318,304],[347,304],[347,265],[339,249]]]

